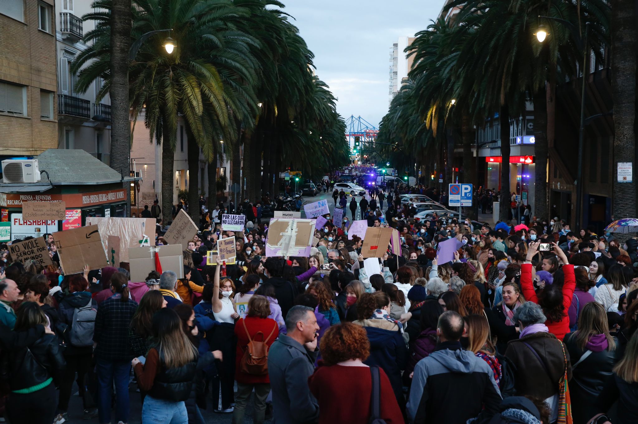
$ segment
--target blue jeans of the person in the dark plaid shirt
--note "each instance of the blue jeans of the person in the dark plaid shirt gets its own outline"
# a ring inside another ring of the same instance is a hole
[[[98,418],[101,424],[111,422],[111,395],[115,382],[115,422],[128,423],[128,381],[130,361],[112,361],[98,358]]]

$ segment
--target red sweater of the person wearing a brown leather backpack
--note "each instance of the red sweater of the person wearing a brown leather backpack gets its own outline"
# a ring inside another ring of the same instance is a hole
[[[277,325],[277,322],[272,318],[246,316],[246,328],[248,329],[251,339],[255,340],[256,338],[256,341],[268,339],[266,344],[269,349],[272,346],[272,343],[274,343],[277,337],[279,337],[279,325]],[[263,338],[261,334],[257,334],[258,332],[263,333]],[[271,332],[272,336],[269,338],[268,336]],[[237,336],[237,348],[235,350],[235,380],[237,380],[237,383],[242,383],[244,385],[270,383],[271,380],[268,378],[268,374],[256,376],[241,372],[241,360],[242,357],[244,357],[244,351],[248,345],[248,334],[246,334],[246,329],[244,329],[244,318],[239,318],[239,321],[235,323],[235,336]]]

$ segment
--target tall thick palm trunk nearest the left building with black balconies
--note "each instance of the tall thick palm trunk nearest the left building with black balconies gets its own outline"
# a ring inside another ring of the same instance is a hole
[[[128,177],[131,169],[131,123],[128,99],[128,50],[131,46],[131,0],[114,0],[111,8],[111,146],[110,166]],[[128,183],[124,184],[124,188]],[[128,190],[126,190],[128,192]],[[130,206],[130,204],[129,204]]]

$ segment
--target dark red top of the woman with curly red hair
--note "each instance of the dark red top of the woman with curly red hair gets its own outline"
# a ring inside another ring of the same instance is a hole
[[[319,402],[319,424],[367,423],[370,421],[370,395],[372,377],[369,367],[346,367],[344,365],[319,367],[308,378],[310,392]],[[382,368],[381,417],[387,424],[403,424],[403,415],[392,391],[390,380]],[[348,399],[345,407],[343,400]]]

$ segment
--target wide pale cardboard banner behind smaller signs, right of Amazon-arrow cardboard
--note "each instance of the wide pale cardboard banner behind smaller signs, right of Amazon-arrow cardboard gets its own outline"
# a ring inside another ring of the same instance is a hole
[[[68,212],[68,211],[67,211]],[[121,262],[128,262],[130,248],[155,244],[154,218],[103,218],[87,216],[86,226],[97,225],[102,237],[102,246],[108,251],[108,236],[120,239],[119,257]]]

